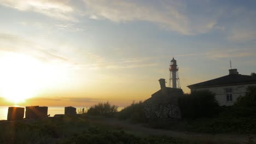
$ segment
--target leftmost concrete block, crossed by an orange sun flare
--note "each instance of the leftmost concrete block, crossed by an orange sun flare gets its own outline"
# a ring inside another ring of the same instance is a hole
[[[24,118],[24,107],[9,107],[7,119],[9,121],[21,120]]]

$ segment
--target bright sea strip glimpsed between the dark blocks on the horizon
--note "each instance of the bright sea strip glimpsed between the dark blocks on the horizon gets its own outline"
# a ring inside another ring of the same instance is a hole
[[[0,106],[0,120],[7,119],[8,107],[9,106]],[[79,113],[79,111],[82,111],[83,108],[85,112],[89,109],[89,107],[83,107],[83,106],[77,106],[75,108],[77,108],[77,113]],[[124,107],[118,107],[118,111],[122,109],[124,109]],[[50,117],[53,117],[56,114],[64,114],[64,111],[65,111],[65,106],[48,106],[48,115],[50,115]],[[25,113],[24,113],[24,117],[25,117]]]

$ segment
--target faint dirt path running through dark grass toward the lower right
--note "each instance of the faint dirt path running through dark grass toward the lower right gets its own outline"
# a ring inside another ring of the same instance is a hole
[[[132,124],[126,121],[119,121],[115,118],[103,118],[97,119],[98,123],[110,125],[116,128],[123,128],[128,133],[146,136],[146,135],[166,135],[171,137],[178,137],[188,140],[201,141],[203,143],[242,143],[245,144],[248,141],[248,135],[235,135],[235,134],[200,134],[191,133],[186,131],[173,131],[163,129],[152,129],[143,127],[141,124]],[[254,141],[256,135],[253,135]]]

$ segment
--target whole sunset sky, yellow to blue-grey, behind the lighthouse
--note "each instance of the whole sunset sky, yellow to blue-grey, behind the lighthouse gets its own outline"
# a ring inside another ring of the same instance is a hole
[[[0,0],[0,105],[127,106],[256,72],[256,1]],[[167,83],[168,86],[168,83]],[[26,99],[26,100],[24,100]]]

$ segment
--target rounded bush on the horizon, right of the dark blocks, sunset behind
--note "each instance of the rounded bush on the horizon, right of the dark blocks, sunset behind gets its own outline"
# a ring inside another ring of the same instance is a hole
[[[102,115],[102,116],[113,116],[117,113],[118,106],[110,105],[107,103],[98,103],[97,105],[91,106],[87,111],[88,115]]]

